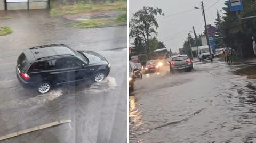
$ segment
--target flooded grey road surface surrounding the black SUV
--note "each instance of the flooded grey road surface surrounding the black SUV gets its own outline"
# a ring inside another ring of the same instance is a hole
[[[0,142],[126,142],[127,27],[76,29],[66,19],[51,18],[48,10],[0,11],[0,26],[13,33],[0,37],[0,136],[71,119],[70,124],[31,132]],[[78,50],[99,52],[111,64],[105,81],[59,87],[39,95],[24,89],[15,75],[22,50],[63,43]]]

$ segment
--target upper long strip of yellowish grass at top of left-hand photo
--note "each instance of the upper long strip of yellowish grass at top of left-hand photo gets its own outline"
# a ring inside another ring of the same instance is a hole
[[[127,1],[117,1],[114,3],[78,3],[73,5],[60,5],[51,9],[51,16],[61,16],[66,14],[106,12],[106,11],[125,11]]]

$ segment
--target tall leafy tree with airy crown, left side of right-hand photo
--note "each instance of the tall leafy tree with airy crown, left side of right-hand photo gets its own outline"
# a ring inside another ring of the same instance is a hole
[[[157,15],[164,15],[162,9],[153,7],[143,7],[138,12],[134,13],[130,22],[130,37],[135,38],[140,36],[145,43],[145,53],[150,58],[149,39],[157,35],[158,23],[155,18]]]

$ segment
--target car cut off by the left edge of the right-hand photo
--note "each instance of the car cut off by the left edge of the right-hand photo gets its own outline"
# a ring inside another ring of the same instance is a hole
[[[135,81],[137,80],[137,75],[139,74],[139,69],[136,65],[129,61],[129,91],[133,91],[135,87]]]

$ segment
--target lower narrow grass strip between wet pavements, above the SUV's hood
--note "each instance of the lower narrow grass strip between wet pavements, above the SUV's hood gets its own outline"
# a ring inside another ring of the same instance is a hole
[[[119,26],[126,24],[127,14],[120,14],[116,19],[88,19],[72,23],[77,28],[97,28],[107,26]]]

